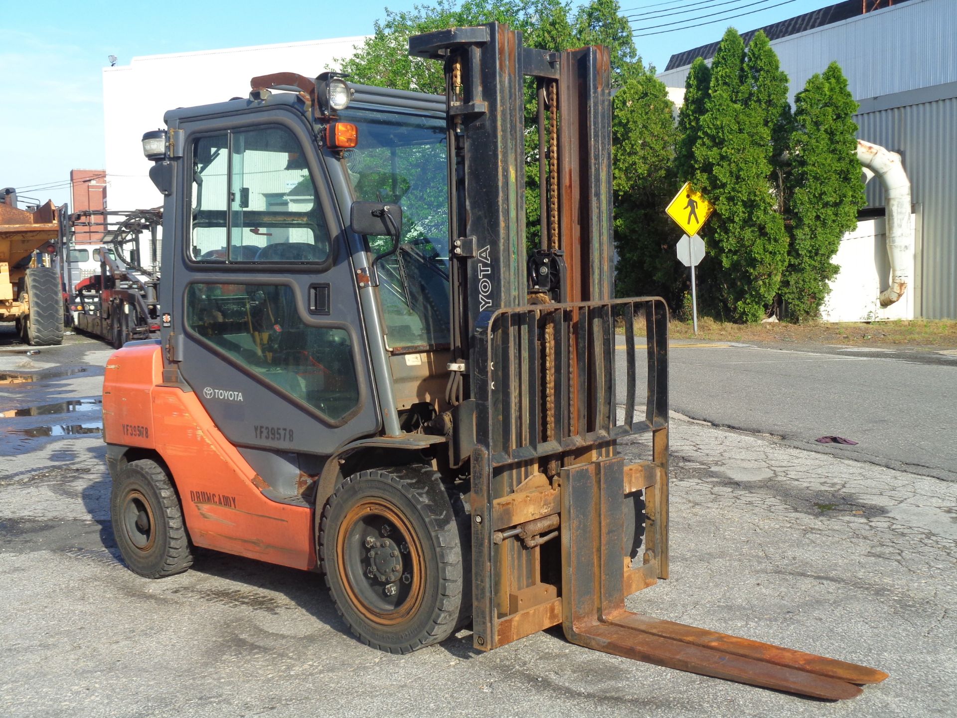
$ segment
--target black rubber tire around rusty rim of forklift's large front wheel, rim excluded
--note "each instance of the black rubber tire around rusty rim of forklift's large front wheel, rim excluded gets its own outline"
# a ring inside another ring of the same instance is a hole
[[[368,617],[349,598],[348,577],[336,549],[347,513],[367,500],[384,502],[399,512],[424,554],[421,603],[411,616],[391,625]],[[465,596],[471,595],[471,583],[466,583],[470,572],[463,572],[463,566],[471,564],[471,552],[463,541],[469,528],[467,516],[454,510],[448,490],[430,466],[373,469],[346,478],[325,505],[320,555],[336,610],[352,633],[366,645],[389,653],[411,653],[454,633],[471,613],[471,599]]]

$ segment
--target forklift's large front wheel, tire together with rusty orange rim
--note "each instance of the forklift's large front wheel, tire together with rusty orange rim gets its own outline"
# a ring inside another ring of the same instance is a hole
[[[468,529],[429,466],[346,478],[325,505],[320,552],[326,585],[352,633],[389,653],[448,638],[471,613]]]

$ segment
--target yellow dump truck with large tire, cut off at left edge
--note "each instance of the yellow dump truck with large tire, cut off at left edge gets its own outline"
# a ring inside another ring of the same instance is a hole
[[[15,322],[34,347],[63,342],[63,289],[54,262],[59,236],[53,202],[33,212],[16,206],[16,191],[0,191],[0,322]]]

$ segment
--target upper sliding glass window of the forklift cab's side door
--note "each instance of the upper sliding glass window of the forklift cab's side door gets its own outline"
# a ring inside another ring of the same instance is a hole
[[[323,262],[330,237],[299,141],[267,126],[201,137],[192,153],[191,258]]]

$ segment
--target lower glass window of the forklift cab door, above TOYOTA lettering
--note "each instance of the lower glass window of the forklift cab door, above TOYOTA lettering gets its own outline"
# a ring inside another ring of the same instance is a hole
[[[359,404],[349,333],[306,325],[285,284],[190,284],[187,323],[202,342],[332,420]]]

